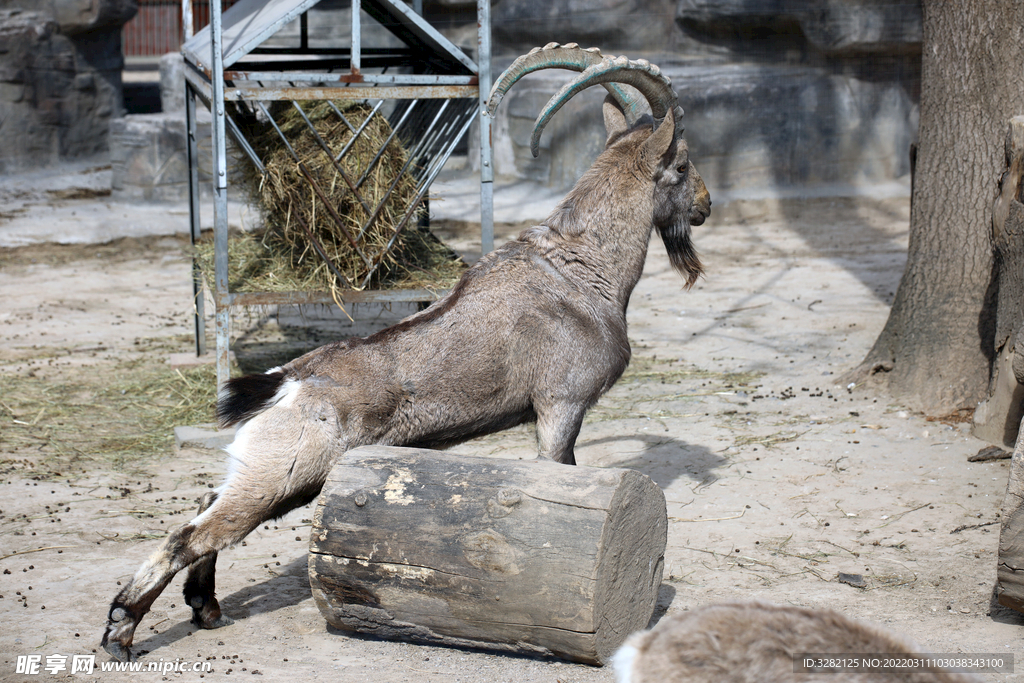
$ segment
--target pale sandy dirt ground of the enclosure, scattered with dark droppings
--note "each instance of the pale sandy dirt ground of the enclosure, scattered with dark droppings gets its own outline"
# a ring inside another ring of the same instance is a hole
[[[969,463],[985,444],[968,425],[838,384],[885,323],[907,215],[905,199],[716,206],[695,228],[708,276],[689,292],[654,239],[630,307],[633,361],[588,417],[577,458],[640,470],[665,492],[655,618],[737,599],[831,607],[927,651],[1016,654],[1024,671],[1024,615],[992,602],[1008,461]],[[441,231],[472,250],[460,227]],[[144,403],[174,403],[158,389],[133,399],[129,380],[143,371],[170,377],[168,354],[190,348],[182,248],[155,237],[0,252],[2,680],[49,676],[17,675],[19,655],[43,655],[44,668],[52,654],[109,660],[98,643],[118,585],[224,471],[222,454],[176,451],[163,428],[137,447],[111,441],[145,430]],[[354,326],[325,311],[241,316],[239,362],[260,370],[409,311],[354,312]],[[457,451],[529,459],[532,431]],[[296,510],[221,554],[218,594],[230,627],[194,628],[179,575],[136,634],[141,660],[208,661],[204,680],[613,680],[607,668],[328,629],[306,578],[310,516]],[[860,574],[863,586],[841,583],[840,572]]]

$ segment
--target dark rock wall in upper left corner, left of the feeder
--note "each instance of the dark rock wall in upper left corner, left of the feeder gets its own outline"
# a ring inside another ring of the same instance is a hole
[[[135,8],[0,0],[0,173],[106,152],[123,110],[121,27]]]

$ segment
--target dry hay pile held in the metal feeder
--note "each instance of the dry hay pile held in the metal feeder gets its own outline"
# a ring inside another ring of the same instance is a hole
[[[359,186],[364,200],[360,202],[332,161],[332,157],[349,143],[352,132],[330,102],[299,102],[299,105],[331,156],[290,102],[282,102],[271,110],[271,115],[301,165],[268,121],[241,109],[233,113],[262,158],[266,173],[249,167],[251,170],[245,176],[246,189],[260,208],[264,228],[232,236],[229,240],[228,286],[231,291],[334,291],[365,286],[444,289],[453,286],[466,266],[429,230],[418,227],[419,211],[410,217],[387,249],[395,228],[416,198],[416,181],[412,175],[407,172],[398,176],[409,157],[397,136],[388,142]],[[362,103],[335,102],[335,105],[356,129],[372,111]],[[351,182],[358,182],[390,134],[391,127],[385,118],[380,113],[374,114],[338,163]],[[307,174],[319,191],[307,180]],[[389,189],[391,194],[378,217],[364,230]],[[344,280],[339,279],[314,250],[307,229]],[[362,256],[353,248],[349,237],[356,242]],[[203,271],[212,280],[212,243],[198,245],[197,251]]]

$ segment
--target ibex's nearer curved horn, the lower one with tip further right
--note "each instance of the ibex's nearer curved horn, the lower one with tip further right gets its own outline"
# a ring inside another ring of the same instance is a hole
[[[676,91],[672,89],[672,82],[668,77],[662,75],[662,70],[656,65],[652,65],[646,59],[633,61],[625,56],[606,57],[600,63],[588,67],[585,72],[572,81],[566,83],[548,100],[537,123],[534,124],[534,135],[529,140],[530,152],[537,157],[541,148],[541,133],[551,118],[560,110],[565,102],[577,93],[586,90],[592,85],[605,85],[607,83],[622,83],[630,85],[640,91],[650,104],[651,114],[655,124],[660,124],[662,120],[671,110],[676,110],[678,97]],[[682,110],[676,111],[676,136],[682,135]]]

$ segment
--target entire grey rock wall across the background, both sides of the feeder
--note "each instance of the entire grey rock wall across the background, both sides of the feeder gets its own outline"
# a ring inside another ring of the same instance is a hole
[[[0,120],[9,140],[0,172],[108,150],[110,122],[122,109],[119,33],[134,7],[134,0],[0,0]],[[347,44],[350,7],[324,0],[311,10],[310,44]],[[474,2],[424,0],[424,13],[453,42],[475,47]],[[365,45],[393,41],[364,24]],[[551,41],[650,58],[673,78],[693,159],[719,198],[827,194],[908,173],[921,24],[918,0],[494,0],[493,69],[497,76],[515,55]],[[296,22],[272,42],[294,44],[297,31]],[[165,112],[180,112],[180,68],[165,59],[163,70]],[[499,109],[499,175],[567,188],[603,147],[603,94],[595,88],[554,119],[541,157],[529,154],[535,117],[568,77],[530,76]],[[154,140],[173,127],[154,126],[145,133]],[[126,143],[135,139],[129,128],[137,126],[118,129]],[[127,159],[128,151],[117,154]]]

